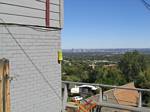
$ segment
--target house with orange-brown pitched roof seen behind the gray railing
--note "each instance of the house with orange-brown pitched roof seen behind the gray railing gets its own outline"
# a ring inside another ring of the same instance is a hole
[[[129,83],[121,87],[135,89],[134,83]],[[136,90],[111,89],[105,91],[103,94],[103,101],[106,103],[137,107],[138,100],[139,100],[139,93]],[[125,110],[123,111],[119,109],[103,107],[102,112],[130,112],[130,111]]]

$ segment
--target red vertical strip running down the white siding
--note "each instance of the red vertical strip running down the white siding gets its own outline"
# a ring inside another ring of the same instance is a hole
[[[45,23],[46,27],[50,27],[50,0],[46,0]]]

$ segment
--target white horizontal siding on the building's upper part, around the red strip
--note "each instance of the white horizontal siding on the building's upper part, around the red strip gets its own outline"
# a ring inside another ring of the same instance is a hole
[[[61,4],[59,2],[61,1]],[[51,27],[60,27],[60,23],[63,21],[61,15],[63,15],[63,10],[60,10],[63,7],[63,0],[50,0],[51,3],[58,5],[50,4],[50,26]],[[38,25],[45,26],[45,3],[38,2],[36,0],[2,0],[3,3],[21,5],[25,7],[38,8],[41,10],[29,9],[18,6],[10,6],[6,4],[0,4],[0,17],[7,23],[18,23],[25,25]],[[60,12],[61,11],[61,12]],[[60,14],[62,13],[62,14]],[[15,15],[12,15],[15,14]],[[26,17],[25,17],[26,16]],[[29,17],[29,16],[33,16]],[[40,18],[36,18],[40,17]],[[0,21],[2,22],[2,21]]]

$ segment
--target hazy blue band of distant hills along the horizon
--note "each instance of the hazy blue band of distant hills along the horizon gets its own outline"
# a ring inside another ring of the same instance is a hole
[[[137,50],[144,54],[150,54],[150,48],[117,48],[117,49],[63,49],[64,53],[113,53],[124,54]]]

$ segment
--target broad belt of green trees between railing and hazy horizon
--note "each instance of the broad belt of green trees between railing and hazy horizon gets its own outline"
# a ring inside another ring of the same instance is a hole
[[[88,57],[88,56],[86,56]],[[111,59],[112,58],[112,59]],[[96,60],[95,60],[96,59]],[[134,82],[136,87],[150,89],[150,57],[138,51],[123,55],[102,56],[111,62],[93,58],[64,58],[62,79],[76,82],[123,85]],[[115,63],[113,61],[115,60]],[[144,93],[144,103],[150,106],[150,93]]]

